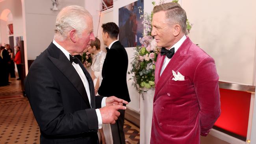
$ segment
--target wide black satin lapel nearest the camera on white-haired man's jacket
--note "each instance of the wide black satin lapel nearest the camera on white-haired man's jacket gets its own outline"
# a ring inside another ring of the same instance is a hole
[[[59,70],[74,85],[74,87],[81,94],[83,100],[88,105],[88,107],[91,107],[83,82],[80,76],[78,75],[78,73],[76,72],[76,69],[72,66],[72,64],[69,62],[67,57],[64,54],[60,54],[59,59],[56,59],[51,56],[49,56],[49,59],[52,61],[52,63],[54,63],[54,65],[56,65],[59,68]]]

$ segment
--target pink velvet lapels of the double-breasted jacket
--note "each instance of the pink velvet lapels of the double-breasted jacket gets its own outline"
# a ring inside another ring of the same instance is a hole
[[[161,76],[160,76],[160,72],[163,66],[165,55],[163,56],[160,55],[158,59],[160,60],[160,63],[158,62],[156,63],[156,73],[155,73],[156,90],[155,90],[154,100],[158,92],[162,89],[163,85],[167,82],[167,80],[173,77],[172,70],[176,72],[178,68],[180,68],[184,64],[184,62],[189,58],[187,51],[189,50],[189,47],[191,46],[191,44],[192,44],[191,40],[189,39],[189,37],[187,37],[187,39],[182,43],[182,45],[177,50],[177,52],[173,55],[171,61],[166,66]]]

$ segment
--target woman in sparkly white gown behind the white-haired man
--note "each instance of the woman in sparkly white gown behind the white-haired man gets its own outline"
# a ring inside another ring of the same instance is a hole
[[[95,38],[95,41],[91,41],[88,52],[94,54],[92,60],[92,78],[95,88],[95,95],[98,95],[98,88],[100,87],[102,81],[102,66],[106,57],[106,52],[100,50],[100,40]],[[110,124],[102,124],[102,129],[98,131],[99,140],[102,144],[113,144],[113,138],[111,133]]]

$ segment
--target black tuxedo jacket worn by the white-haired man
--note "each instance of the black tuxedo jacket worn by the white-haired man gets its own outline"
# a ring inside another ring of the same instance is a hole
[[[90,85],[91,105],[78,73],[55,44],[30,67],[25,92],[40,127],[41,144],[98,144],[95,109],[103,97],[95,97],[93,80],[78,64]]]

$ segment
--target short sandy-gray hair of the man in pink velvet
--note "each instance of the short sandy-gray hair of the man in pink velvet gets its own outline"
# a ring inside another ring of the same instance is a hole
[[[168,2],[155,6],[153,9],[153,14],[159,11],[165,11],[165,17],[169,24],[178,23],[181,26],[182,32],[186,33],[187,29],[187,15],[186,11],[182,9],[180,4],[175,2]]]

